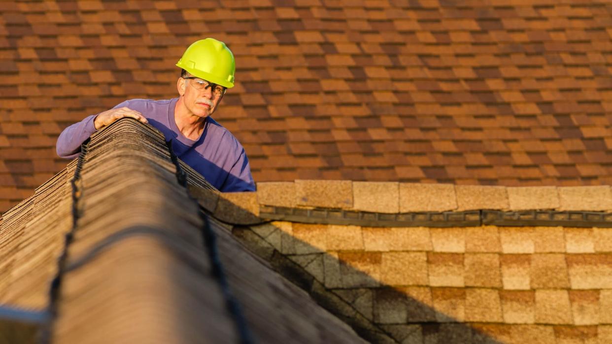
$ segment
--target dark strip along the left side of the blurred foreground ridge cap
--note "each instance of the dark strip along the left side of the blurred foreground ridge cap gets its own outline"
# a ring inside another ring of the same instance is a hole
[[[78,200],[81,196],[79,193],[79,188],[76,183],[81,179],[81,169],[83,169],[83,164],[85,162],[85,155],[88,151],[89,139],[81,144],[81,153],[78,155],[76,161],[75,174],[70,180],[70,186],[72,186],[72,229],[70,232],[66,233],[64,236],[64,250],[62,254],[58,258],[58,273],[51,280],[51,286],[49,288],[49,304],[47,307],[47,312],[49,314],[47,326],[42,330],[40,335],[41,343],[50,343],[51,342],[51,333],[53,332],[53,320],[58,315],[58,301],[60,295],[60,288],[62,285],[62,277],[65,272],[65,265],[68,257],[68,247],[72,243],[74,238],[74,234],[76,232],[76,222],[78,222],[78,218],[80,216],[78,210]]]

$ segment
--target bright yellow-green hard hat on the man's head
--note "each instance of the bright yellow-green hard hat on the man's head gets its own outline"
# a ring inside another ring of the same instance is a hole
[[[206,38],[198,40],[185,50],[183,57],[176,63],[191,75],[213,82],[214,84],[234,87],[236,61],[225,43]]]

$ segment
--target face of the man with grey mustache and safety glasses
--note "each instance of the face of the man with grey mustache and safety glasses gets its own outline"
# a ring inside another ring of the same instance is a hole
[[[192,75],[188,75],[188,77],[192,77]],[[215,112],[223,95],[215,95],[215,92],[212,92],[212,87],[200,90],[202,87],[196,85],[196,82],[201,83],[202,81],[202,79],[179,78],[177,88],[188,111],[198,117],[206,118]]]

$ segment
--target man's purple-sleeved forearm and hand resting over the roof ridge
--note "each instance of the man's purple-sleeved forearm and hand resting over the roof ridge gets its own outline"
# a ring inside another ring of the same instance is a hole
[[[101,128],[110,125],[114,121],[123,117],[132,117],[140,120],[140,122],[148,123],[143,114],[138,111],[129,109],[125,106],[127,101],[115,106],[114,108],[100,112],[97,115],[91,115],[84,120],[65,128],[58,137],[56,144],[56,152],[60,158],[73,159],[81,153],[81,144],[88,139],[91,134]]]

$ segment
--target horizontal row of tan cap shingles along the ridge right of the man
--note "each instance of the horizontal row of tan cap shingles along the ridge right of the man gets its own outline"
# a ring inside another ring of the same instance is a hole
[[[244,197],[250,193],[245,193]],[[350,180],[258,183],[256,200],[278,207],[379,213],[465,210],[611,211],[610,186],[505,187]]]

